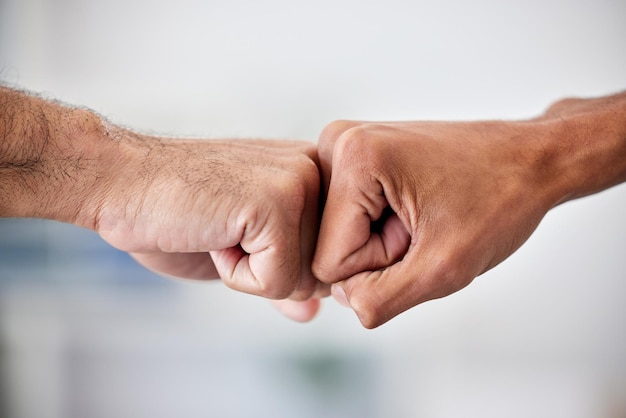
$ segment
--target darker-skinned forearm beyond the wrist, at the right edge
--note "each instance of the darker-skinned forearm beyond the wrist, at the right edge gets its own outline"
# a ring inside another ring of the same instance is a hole
[[[626,181],[626,92],[563,100],[542,119],[556,204]]]

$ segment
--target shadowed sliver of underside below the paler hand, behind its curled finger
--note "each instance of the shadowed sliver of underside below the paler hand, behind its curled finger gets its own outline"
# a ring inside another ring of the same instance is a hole
[[[209,253],[130,253],[147,269],[182,279],[218,279]]]

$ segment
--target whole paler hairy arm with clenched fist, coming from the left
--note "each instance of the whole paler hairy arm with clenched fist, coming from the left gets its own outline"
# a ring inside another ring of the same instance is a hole
[[[319,185],[313,144],[157,138],[0,86],[0,217],[75,224],[158,273],[305,301],[298,320],[328,294],[310,269]]]

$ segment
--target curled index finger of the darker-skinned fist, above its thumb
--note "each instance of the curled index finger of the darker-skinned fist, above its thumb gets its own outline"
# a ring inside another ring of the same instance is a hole
[[[389,203],[381,183],[362,164],[359,153],[364,147],[360,143],[354,147],[355,143],[342,139],[333,157],[335,172],[313,258],[314,274],[326,283],[387,267],[404,255],[410,243],[393,211],[381,219]],[[373,228],[374,222],[381,221],[382,228]]]

